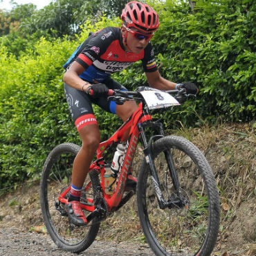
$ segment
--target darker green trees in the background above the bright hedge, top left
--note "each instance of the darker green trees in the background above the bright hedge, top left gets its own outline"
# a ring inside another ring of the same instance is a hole
[[[125,0],[56,0],[40,10],[33,4],[16,5],[8,17],[19,21],[19,30],[23,34],[31,35],[42,30],[53,37],[73,36],[80,33],[80,26],[87,19],[96,22],[103,13],[108,17],[120,16],[125,3]]]

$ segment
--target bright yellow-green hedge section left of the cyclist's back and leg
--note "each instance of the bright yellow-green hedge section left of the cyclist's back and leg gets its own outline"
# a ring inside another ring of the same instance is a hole
[[[62,82],[63,64],[90,31],[116,26],[117,19],[86,22],[76,41],[42,37],[19,58],[0,49],[0,189],[42,171],[48,152],[65,141],[80,143],[68,111]],[[109,114],[95,107],[102,138],[118,128]],[[119,123],[120,124],[120,123]]]

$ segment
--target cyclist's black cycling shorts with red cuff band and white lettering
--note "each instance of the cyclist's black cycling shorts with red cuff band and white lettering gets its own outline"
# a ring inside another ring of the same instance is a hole
[[[121,89],[127,91],[125,86],[119,84],[112,78],[104,80],[104,84],[109,89]],[[109,113],[116,113],[116,102],[108,101],[106,97],[94,98],[83,91],[79,91],[68,84],[64,83],[64,91],[68,108],[71,111],[71,116],[75,122],[75,126],[79,131],[82,127],[91,124],[98,124],[91,103],[97,104],[99,107],[108,111]]]

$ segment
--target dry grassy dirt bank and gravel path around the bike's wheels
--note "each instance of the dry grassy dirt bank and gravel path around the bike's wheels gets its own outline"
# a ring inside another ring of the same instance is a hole
[[[255,129],[233,124],[194,129],[190,137],[208,158],[221,189],[221,226],[212,256],[256,256]],[[134,158],[134,167],[140,162],[141,157]],[[44,226],[39,181],[0,194],[0,256],[76,255],[57,249],[46,233],[35,232]],[[147,244],[131,242],[144,241],[135,197],[115,214],[119,215],[102,223],[98,240],[80,255],[154,255]]]

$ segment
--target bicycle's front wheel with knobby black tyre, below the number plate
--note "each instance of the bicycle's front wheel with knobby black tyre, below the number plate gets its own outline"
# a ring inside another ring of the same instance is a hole
[[[138,175],[137,201],[149,246],[158,256],[209,256],[219,230],[219,194],[208,161],[196,146],[179,136],[157,140],[152,152],[167,206],[159,207],[144,159]],[[174,189],[165,154],[173,158],[179,191]]]

